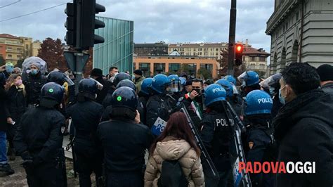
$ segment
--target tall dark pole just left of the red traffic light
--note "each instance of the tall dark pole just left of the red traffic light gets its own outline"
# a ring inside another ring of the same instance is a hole
[[[230,23],[229,23],[229,54],[228,54],[228,75],[234,74],[233,63],[235,60],[235,34],[236,34],[236,0],[231,0]]]

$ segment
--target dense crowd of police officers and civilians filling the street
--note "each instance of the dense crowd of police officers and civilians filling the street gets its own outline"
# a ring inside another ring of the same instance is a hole
[[[44,75],[36,61],[28,69],[1,66],[0,171],[13,174],[8,157],[19,155],[29,186],[66,186],[67,131],[80,186],[92,173],[97,186],[234,186],[230,126],[239,124],[226,103],[242,121],[247,162],[315,162],[314,174],[249,174],[252,186],[333,185],[332,65],[291,63],[263,80],[254,71],[204,80],[95,68],[77,93],[70,71]]]

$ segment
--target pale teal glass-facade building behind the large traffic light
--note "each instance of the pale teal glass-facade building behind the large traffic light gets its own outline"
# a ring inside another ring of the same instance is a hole
[[[96,16],[105,23],[104,28],[95,30],[95,34],[104,38],[103,44],[93,46],[93,68],[109,73],[112,66],[119,72],[133,72],[133,28],[134,22]]]

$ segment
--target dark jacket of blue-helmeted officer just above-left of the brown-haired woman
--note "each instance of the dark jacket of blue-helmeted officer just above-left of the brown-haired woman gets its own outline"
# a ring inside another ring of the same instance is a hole
[[[167,101],[166,95],[155,94],[150,96],[147,102],[146,110],[146,123],[148,127],[151,128],[158,117],[167,122],[169,120],[171,110],[172,108]]]

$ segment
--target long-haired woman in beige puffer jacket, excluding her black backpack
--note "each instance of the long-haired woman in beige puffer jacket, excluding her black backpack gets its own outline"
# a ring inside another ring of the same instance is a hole
[[[170,116],[164,131],[152,145],[145,170],[145,186],[157,186],[164,160],[178,160],[188,186],[204,186],[200,149],[182,112]]]

